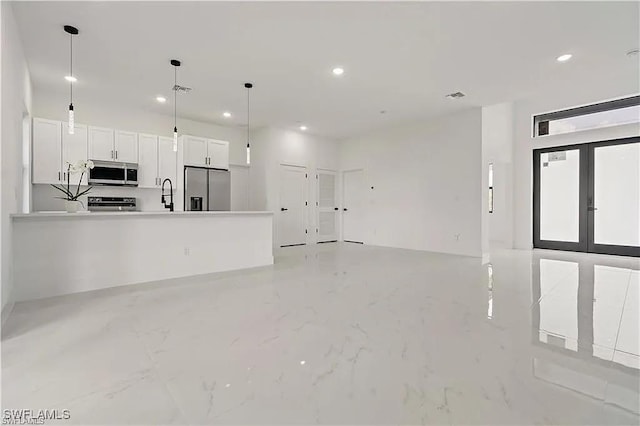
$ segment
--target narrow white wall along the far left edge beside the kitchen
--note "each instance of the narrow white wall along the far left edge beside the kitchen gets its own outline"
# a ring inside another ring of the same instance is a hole
[[[11,302],[13,271],[11,268],[11,219],[22,206],[22,132],[23,118],[31,111],[31,80],[22,50],[22,42],[11,3],[0,2],[2,68],[2,141],[0,143],[0,257],[2,308]]]

